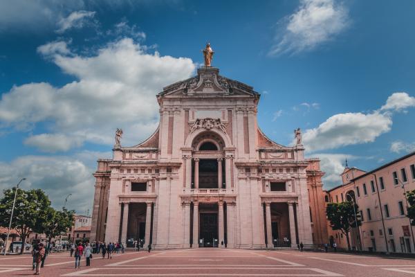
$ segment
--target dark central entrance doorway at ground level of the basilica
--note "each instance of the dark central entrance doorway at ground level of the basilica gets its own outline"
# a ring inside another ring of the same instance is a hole
[[[218,247],[218,214],[201,213],[200,237],[203,247]]]

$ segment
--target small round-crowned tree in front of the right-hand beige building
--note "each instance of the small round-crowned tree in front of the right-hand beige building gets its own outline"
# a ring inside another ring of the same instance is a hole
[[[355,210],[357,222],[355,220]],[[330,221],[331,229],[340,230],[346,236],[347,249],[350,251],[350,229],[362,224],[359,220],[360,213],[358,205],[354,204],[353,209],[353,202],[330,203],[327,205],[326,215]]]

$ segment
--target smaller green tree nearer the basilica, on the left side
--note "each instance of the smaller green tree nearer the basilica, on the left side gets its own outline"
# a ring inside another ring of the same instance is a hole
[[[62,211],[56,211],[54,208],[48,207],[45,210],[45,216],[40,217],[37,221],[34,231],[44,233],[50,244],[53,238],[71,228],[74,214],[75,211],[68,211],[66,208],[63,208]]]

